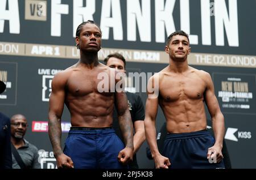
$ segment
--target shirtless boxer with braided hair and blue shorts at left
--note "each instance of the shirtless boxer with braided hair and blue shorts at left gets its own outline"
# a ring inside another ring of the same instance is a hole
[[[92,20],[77,27],[76,46],[80,49],[79,61],[54,76],[49,97],[48,131],[57,168],[127,168],[134,151],[127,97],[125,92],[115,91],[121,80],[115,76],[117,73],[98,61],[101,29]],[[63,152],[64,104],[72,127]],[[109,128],[113,125],[114,106],[125,145]]]

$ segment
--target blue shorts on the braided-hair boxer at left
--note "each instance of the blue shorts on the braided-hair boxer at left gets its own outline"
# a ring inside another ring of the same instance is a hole
[[[64,154],[71,157],[78,169],[127,168],[118,162],[124,148],[114,130],[71,130],[65,141]]]

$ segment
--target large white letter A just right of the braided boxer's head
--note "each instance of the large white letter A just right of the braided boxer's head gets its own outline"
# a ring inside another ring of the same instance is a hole
[[[110,14],[112,12],[112,17]],[[109,28],[113,28],[114,40],[123,40],[122,15],[119,0],[103,0],[101,9],[102,39],[109,39]]]

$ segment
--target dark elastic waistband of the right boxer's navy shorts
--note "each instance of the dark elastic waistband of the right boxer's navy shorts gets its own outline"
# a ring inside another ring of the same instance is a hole
[[[170,133],[167,134],[166,139],[174,140],[174,139],[188,139],[188,138],[197,138],[201,136],[212,135],[208,130],[200,130],[195,132],[183,132],[183,133]]]

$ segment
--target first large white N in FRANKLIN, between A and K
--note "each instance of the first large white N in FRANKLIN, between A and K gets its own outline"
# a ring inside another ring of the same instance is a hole
[[[151,7],[150,1],[127,1],[127,40],[136,41],[136,24],[143,42],[151,42]],[[141,7],[142,6],[142,7]]]

